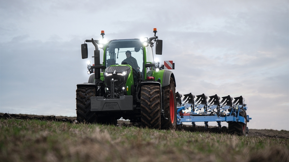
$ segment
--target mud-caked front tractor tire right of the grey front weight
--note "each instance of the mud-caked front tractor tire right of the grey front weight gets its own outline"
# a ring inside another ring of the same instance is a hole
[[[143,128],[161,129],[161,92],[157,85],[141,88],[141,125]]]

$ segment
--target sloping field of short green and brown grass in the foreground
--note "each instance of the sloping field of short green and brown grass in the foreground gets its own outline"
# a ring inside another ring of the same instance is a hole
[[[0,119],[0,161],[289,161],[289,139]]]

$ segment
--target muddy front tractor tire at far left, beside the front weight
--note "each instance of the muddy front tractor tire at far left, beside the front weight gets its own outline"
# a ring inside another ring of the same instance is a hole
[[[92,87],[80,87],[76,90],[76,120],[80,123],[93,123],[96,120],[95,112],[90,111],[90,97],[96,96]]]

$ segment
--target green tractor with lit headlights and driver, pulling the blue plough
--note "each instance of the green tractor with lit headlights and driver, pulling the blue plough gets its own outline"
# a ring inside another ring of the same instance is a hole
[[[92,42],[94,65],[87,62],[88,83],[77,84],[76,114],[82,123],[117,124],[119,118],[139,122],[142,127],[175,129],[177,125],[174,74],[154,60],[162,54],[163,41],[156,36],[143,39],[85,40]],[[88,57],[81,45],[82,59]],[[100,51],[103,49],[103,63]],[[94,73],[94,74],[93,74]]]

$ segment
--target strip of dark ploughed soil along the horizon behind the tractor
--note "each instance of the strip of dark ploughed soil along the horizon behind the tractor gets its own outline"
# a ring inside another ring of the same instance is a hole
[[[42,121],[55,121],[55,122],[69,122],[77,123],[76,117],[66,117],[66,116],[43,116],[43,115],[27,115],[27,114],[7,114],[0,113],[0,119],[18,119],[18,120],[42,120]],[[128,120],[118,120],[118,126],[120,127],[140,127],[140,123],[131,123]],[[195,128],[191,125],[183,125],[178,128],[179,130],[185,131],[199,131],[199,132],[214,132],[220,133],[218,127],[209,126],[206,130],[204,126],[196,126]],[[223,126],[221,133],[228,133],[228,128]],[[250,129],[247,136],[259,136],[259,137],[270,137],[270,138],[289,138],[289,131],[272,130],[272,129]]]

